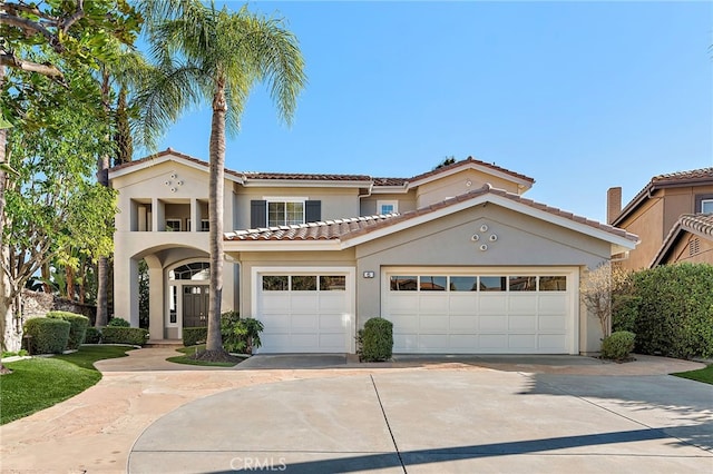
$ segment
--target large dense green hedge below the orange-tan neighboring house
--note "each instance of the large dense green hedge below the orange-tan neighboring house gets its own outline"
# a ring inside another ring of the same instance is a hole
[[[632,328],[634,318],[637,353],[713,357],[713,265],[683,263],[637,271],[627,295],[632,299],[616,308],[613,324]]]

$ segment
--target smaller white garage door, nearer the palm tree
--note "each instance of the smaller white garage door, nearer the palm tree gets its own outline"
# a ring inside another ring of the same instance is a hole
[[[348,273],[262,273],[255,317],[264,325],[260,353],[352,352]]]

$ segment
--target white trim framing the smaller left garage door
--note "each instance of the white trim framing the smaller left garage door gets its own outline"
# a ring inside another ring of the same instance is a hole
[[[346,296],[349,298],[349,330],[344,334],[344,347],[350,354],[355,354],[355,336],[356,336],[356,269],[354,267],[310,267],[310,266],[290,266],[290,267],[252,267],[251,268],[251,317],[257,318],[257,300],[261,289],[262,275],[324,275],[324,274],[344,274],[346,275]],[[242,286],[242,285],[241,285]]]

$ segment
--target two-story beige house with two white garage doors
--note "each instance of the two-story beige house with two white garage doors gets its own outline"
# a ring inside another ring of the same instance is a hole
[[[170,149],[113,168],[116,315],[153,339],[205,324],[208,164]],[[264,323],[262,353],[354,353],[393,322],[394,353],[578,354],[600,329],[588,269],[637,237],[521,197],[527,176],[472,158],[413,178],[225,175],[223,309]]]

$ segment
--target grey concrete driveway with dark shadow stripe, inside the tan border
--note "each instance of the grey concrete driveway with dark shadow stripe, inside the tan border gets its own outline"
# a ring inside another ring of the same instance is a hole
[[[232,389],[149,426],[129,472],[713,472],[710,385],[548,372],[460,364]]]

